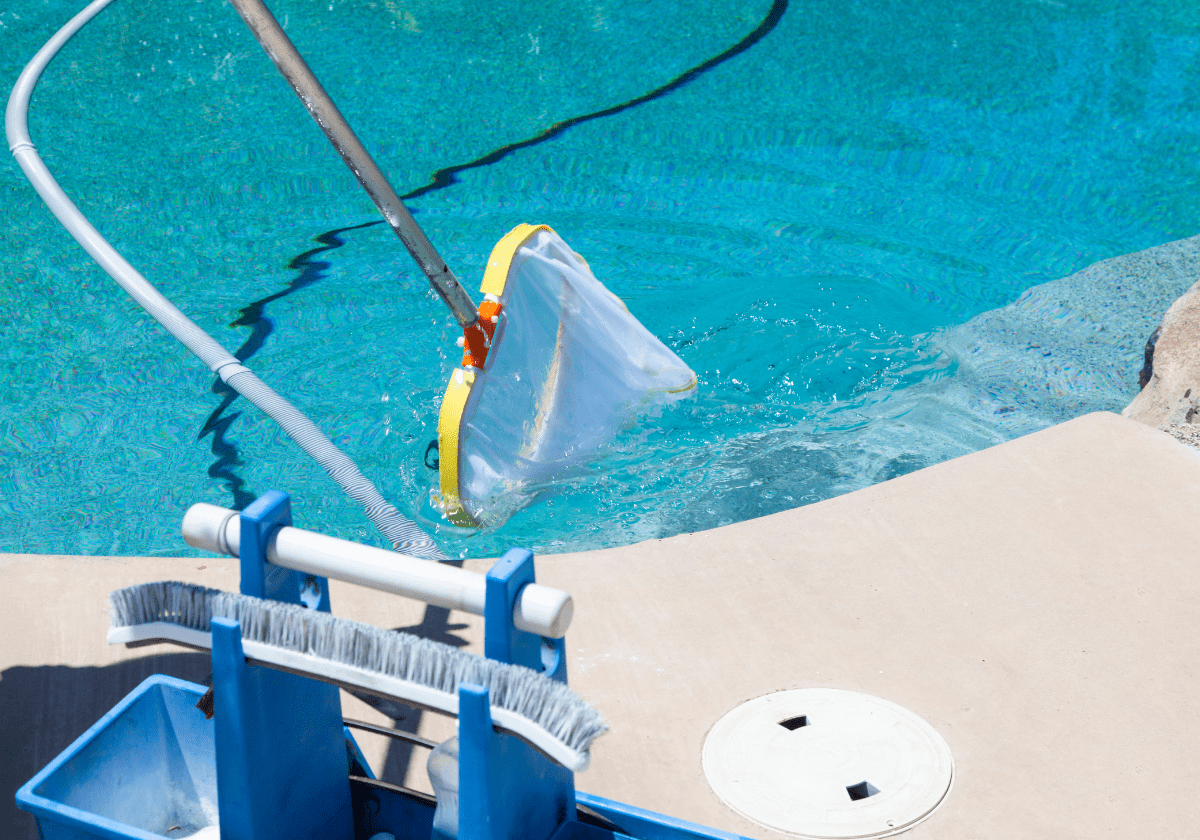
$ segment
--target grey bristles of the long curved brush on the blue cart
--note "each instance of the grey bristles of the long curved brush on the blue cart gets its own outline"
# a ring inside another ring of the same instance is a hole
[[[600,714],[565,684],[412,634],[382,630],[328,612],[162,581],[109,595],[113,626],[151,622],[211,631],[214,617],[241,625],[242,638],[456,694],[460,683],[487,689],[492,706],[538,724],[572,750],[587,751],[607,731]]]

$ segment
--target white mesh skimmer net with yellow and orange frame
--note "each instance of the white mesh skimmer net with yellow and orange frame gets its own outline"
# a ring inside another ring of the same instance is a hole
[[[438,420],[440,493],[456,524],[494,527],[696,374],[545,226],[502,239],[484,275],[490,347],[455,370]]]

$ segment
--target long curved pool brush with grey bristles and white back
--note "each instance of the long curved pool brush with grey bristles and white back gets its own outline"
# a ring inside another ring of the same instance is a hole
[[[458,684],[487,689],[492,721],[571,770],[586,769],[608,727],[564,683],[520,665],[304,606],[163,581],[109,595],[109,644],[166,641],[211,649],[211,622],[241,625],[246,660],[457,715]],[[217,700],[220,702],[220,698]]]

